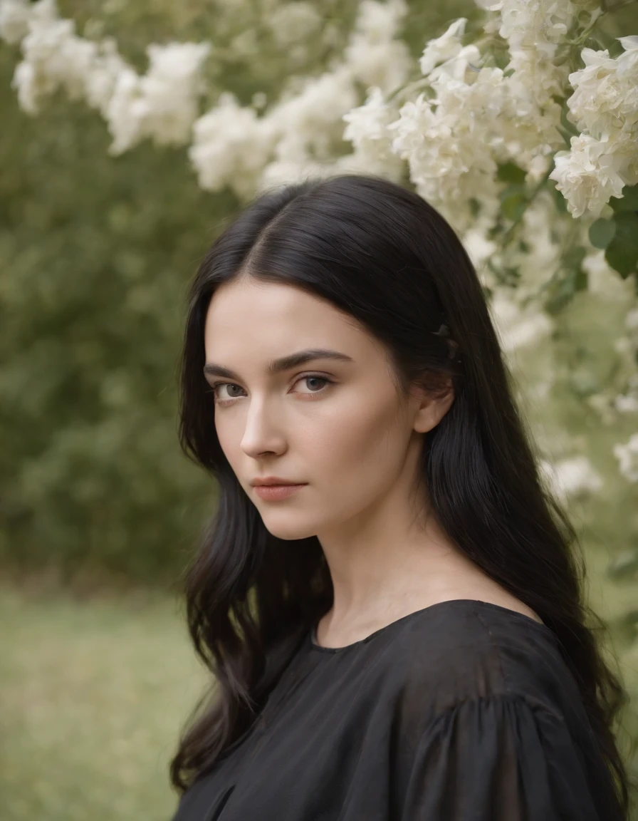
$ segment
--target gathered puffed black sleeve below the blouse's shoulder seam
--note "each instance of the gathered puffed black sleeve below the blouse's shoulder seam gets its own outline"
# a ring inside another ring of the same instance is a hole
[[[563,718],[521,695],[427,722],[405,784],[401,821],[608,821]]]

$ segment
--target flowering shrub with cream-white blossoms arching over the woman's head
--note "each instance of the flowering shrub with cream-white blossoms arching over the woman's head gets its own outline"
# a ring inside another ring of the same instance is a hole
[[[0,38],[20,49],[25,112],[84,101],[112,158],[181,147],[206,192],[241,202],[340,172],[412,186],[476,264],[554,493],[631,510],[638,35],[605,28],[623,5],[468,2],[415,57],[404,0],[344,2],[343,19],[330,0],[271,0],[255,25],[221,3],[216,39],[149,44],[144,73],[101,21],[78,34],[54,0],[0,0]],[[228,71],[240,64],[250,92]],[[625,530],[638,539],[636,519]]]

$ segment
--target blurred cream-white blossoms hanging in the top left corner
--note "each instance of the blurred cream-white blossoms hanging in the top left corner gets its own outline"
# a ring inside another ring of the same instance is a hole
[[[25,111],[38,112],[43,98],[62,88],[103,115],[113,137],[112,154],[146,137],[158,144],[189,140],[209,44],[150,45],[150,67],[140,77],[117,53],[114,40],[96,43],[75,34],[73,21],[57,17],[54,0],[33,6],[3,0],[0,33],[10,41],[21,39],[24,59],[13,85]]]

